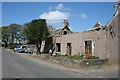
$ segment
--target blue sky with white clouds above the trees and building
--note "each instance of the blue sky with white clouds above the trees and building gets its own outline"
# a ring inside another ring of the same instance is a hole
[[[3,2],[2,26],[25,24],[34,19],[46,19],[58,29],[67,19],[74,32],[91,29],[97,21],[106,25],[115,10],[115,2]]]

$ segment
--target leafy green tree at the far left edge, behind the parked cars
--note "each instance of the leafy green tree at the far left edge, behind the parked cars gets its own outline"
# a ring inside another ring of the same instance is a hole
[[[12,43],[14,40],[20,39],[20,27],[19,24],[10,24],[9,26],[2,26],[2,41]]]

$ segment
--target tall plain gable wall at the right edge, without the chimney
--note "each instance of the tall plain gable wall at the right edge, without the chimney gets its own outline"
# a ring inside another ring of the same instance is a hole
[[[112,64],[118,63],[118,14],[113,16],[112,20],[107,25],[107,54],[109,62]],[[112,34],[110,28],[112,27]],[[120,49],[120,48],[119,48]]]

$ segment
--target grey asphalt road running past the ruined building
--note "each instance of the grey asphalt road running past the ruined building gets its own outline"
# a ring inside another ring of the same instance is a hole
[[[92,74],[91,74],[92,73]],[[94,72],[74,71],[2,49],[2,78],[96,78]],[[101,73],[103,74],[103,73]],[[107,76],[107,75],[106,75]],[[107,76],[108,77],[108,76]]]

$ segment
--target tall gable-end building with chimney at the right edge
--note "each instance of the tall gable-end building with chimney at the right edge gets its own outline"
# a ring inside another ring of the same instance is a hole
[[[106,51],[110,63],[118,63],[118,47],[120,42],[120,2],[114,5],[115,13],[112,19],[106,24]]]

